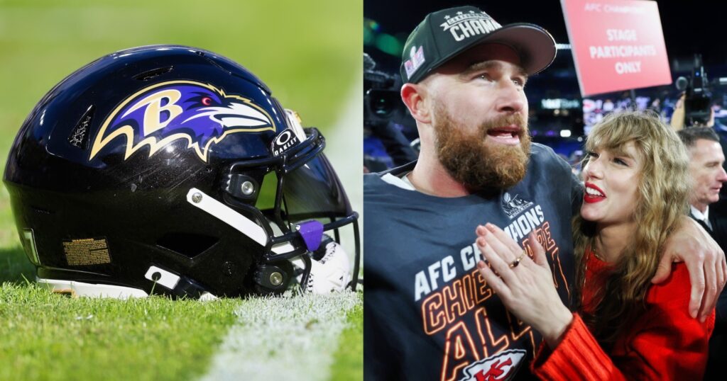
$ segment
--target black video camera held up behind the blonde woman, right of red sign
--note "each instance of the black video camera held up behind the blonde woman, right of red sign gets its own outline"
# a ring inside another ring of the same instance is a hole
[[[712,91],[702,54],[694,54],[694,69],[689,78],[679,77],[677,89],[685,91],[684,126],[707,126],[712,117]]]

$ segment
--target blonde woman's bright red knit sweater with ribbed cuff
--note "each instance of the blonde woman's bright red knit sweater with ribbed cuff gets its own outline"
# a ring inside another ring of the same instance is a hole
[[[585,308],[594,307],[589,306],[597,286],[593,279],[606,267],[595,255],[588,255]],[[704,323],[691,318],[690,292],[686,266],[675,264],[669,279],[649,287],[646,312],[609,353],[574,314],[561,343],[553,351],[541,345],[531,370],[543,380],[702,380],[715,314]]]

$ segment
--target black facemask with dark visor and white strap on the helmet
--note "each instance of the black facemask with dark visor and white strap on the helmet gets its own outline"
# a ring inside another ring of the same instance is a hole
[[[291,130],[281,135],[286,131]],[[311,259],[324,240],[324,232],[333,231],[334,241],[340,245],[339,229],[349,224],[353,226],[356,255],[348,287],[355,289],[358,281],[358,213],[351,210],[338,177],[322,153],[324,137],[316,128],[306,129],[305,135],[304,141],[276,156],[230,165],[222,201],[230,210],[238,210],[236,216],[194,202],[198,191],[190,190],[188,196],[193,205],[239,226],[236,229],[264,246],[254,263],[256,289],[262,293],[286,289],[292,280],[289,271],[281,269],[286,261],[302,263],[300,285],[308,284]]]

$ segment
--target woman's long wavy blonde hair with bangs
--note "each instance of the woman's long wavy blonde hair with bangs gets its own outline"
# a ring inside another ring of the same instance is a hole
[[[640,153],[642,166],[638,179],[637,221],[624,253],[606,276],[604,287],[595,294],[597,306],[583,319],[601,345],[609,348],[645,309],[646,291],[662,255],[664,242],[688,210],[690,191],[689,159],[686,148],[672,129],[656,115],[619,112],[606,116],[594,126],[586,149],[622,152],[629,142]],[[583,163],[585,166],[588,156]],[[594,247],[595,223],[577,215],[573,219],[574,253],[577,276],[574,300],[580,307],[585,277],[585,250]]]

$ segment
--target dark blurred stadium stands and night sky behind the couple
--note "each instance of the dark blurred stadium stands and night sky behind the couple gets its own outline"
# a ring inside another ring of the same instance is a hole
[[[434,10],[472,4],[487,12],[502,25],[531,22],[553,34],[557,44],[569,44],[561,2],[544,1],[382,1],[364,0],[364,52],[376,62],[376,70],[399,77],[401,50],[406,37],[417,24]],[[694,54],[702,54],[710,79],[727,76],[727,37],[723,14],[727,5],[704,0],[659,1],[664,41],[667,46],[672,81],[688,75]],[[397,83],[398,87],[399,83]],[[713,101],[718,120],[727,124],[726,86],[713,86]],[[556,152],[576,164],[580,158],[582,139],[595,121],[608,110],[630,107],[629,91],[598,94],[583,99],[579,93],[573,58],[569,49],[559,49],[553,65],[528,81],[529,123],[535,142],[553,147]],[[651,108],[669,120],[679,91],[673,85],[635,90],[640,109]],[[416,138],[411,118],[396,115],[396,122],[409,139]],[[390,163],[376,139],[365,133],[364,155],[379,157]]]

